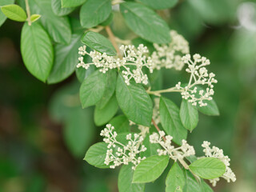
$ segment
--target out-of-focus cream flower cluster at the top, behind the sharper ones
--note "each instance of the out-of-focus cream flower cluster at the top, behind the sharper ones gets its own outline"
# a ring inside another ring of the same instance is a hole
[[[182,70],[184,62],[182,62],[181,55],[190,53],[189,43],[175,30],[170,30],[170,37],[171,42],[169,44],[158,45],[154,43],[156,51],[151,55],[153,69],[160,70],[162,67],[166,67],[166,69]]]

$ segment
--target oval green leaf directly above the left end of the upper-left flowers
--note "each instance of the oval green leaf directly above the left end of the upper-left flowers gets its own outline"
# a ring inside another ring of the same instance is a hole
[[[102,34],[95,33],[93,31],[88,31],[82,37],[82,42],[86,46],[90,46],[91,49],[97,50],[100,53],[106,53],[107,55],[116,55],[117,51],[111,44],[110,40],[105,38]]]

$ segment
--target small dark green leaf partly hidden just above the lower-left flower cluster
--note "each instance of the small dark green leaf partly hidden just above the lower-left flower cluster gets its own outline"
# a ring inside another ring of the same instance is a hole
[[[126,133],[130,131],[129,120],[125,115],[118,115],[110,121],[110,124],[114,126],[114,130],[117,133]]]

